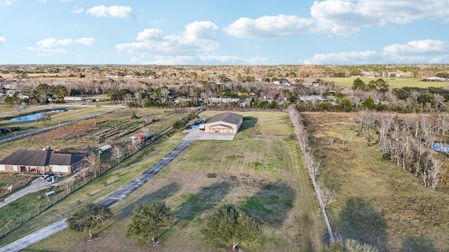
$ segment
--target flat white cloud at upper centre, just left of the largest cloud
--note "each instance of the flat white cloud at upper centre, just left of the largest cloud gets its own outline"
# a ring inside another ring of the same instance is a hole
[[[291,36],[310,32],[313,20],[295,15],[264,16],[255,20],[240,18],[225,27],[227,34],[244,38],[269,38]]]

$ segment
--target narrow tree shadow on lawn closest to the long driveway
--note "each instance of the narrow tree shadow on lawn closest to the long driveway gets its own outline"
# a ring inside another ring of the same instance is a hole
[[[121,221],[123,218],[128,218],[133,214],[133,210],[136,205],[149,204],[152,202],[158,202],[161,200],[165,200],[168,196],[173,195],[180,189],[180,186],[177,183],[169,183],[166,186],[155,190],[153,193],[147,193],[142,195],[135,202],[128,204],[127,207],[121,210],[120,214],[116,216],[116,221]]]

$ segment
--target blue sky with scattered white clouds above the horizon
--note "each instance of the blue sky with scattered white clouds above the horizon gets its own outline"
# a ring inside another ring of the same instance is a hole
[[[0,0],[0,64],[445,64],[449,0]]]

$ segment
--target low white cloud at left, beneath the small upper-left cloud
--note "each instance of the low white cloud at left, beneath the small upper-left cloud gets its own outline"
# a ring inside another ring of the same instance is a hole
[[[64,48],[60,48],[62,46],[67,45],[92,45],[95,41],[95,38],[92,37],[84,37],[84,38],[44,38],[40,41],[37,41],[37,46],[27,46],[25,49],[39,52],[39,56],[53,55],[65,53],[66,50]]]

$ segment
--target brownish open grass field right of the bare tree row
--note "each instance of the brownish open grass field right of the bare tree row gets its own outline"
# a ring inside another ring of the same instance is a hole
[[[448,251],[449,162],[437,190],[424,188],[419,178],[384,160],[377,146],[368,147],[357,136],[353,116],[304,113],[317,139],[321,180],[337,193],[328,209],[333,231],[381,251]],[[337,139],[333,146],[331,138]]]

